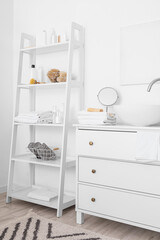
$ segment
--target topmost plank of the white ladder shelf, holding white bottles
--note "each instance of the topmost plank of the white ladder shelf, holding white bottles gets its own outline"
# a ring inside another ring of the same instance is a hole
[[[76,49],[79,46],[80,46],[79,42],[76,41],[74,44],[74,48]],[[23,49],[20,49],[20,51],[27,54],[40,55],[40,54],[46,54],[46,53],[52,53],[52,52],[66,51],[68,49],[69,49],[69,42],[64,42],[64,43],[55,43],[47,46],[23,48]]]

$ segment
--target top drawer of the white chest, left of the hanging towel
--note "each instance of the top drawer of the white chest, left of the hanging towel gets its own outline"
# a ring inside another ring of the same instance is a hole
[[[135,160],[136,132],[78,130],[77,154]]]

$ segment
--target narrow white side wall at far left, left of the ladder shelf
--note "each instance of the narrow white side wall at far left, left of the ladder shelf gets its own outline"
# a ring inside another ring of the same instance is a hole
[[[7,182],[12,122],[13,1],[0,1],[0,192]]]

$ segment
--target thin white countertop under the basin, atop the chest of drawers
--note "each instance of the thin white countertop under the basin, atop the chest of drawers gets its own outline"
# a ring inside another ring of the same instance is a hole
[[[105,125],[105,124],[74,124],[78,129],[89,129],[89,130],[110,130],[110,131],[131,131],[136,132],[138,130],[148,130],[148,131],[160,131],[160,125],[148,126],[148,127],[137,127],[137,126],[129,126],[129,125]]]

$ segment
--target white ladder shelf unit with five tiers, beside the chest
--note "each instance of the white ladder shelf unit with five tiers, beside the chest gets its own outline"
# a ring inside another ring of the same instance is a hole
[[[75,39],[75,32],[79,33],[79,39]],[[20,52],[19,52],[19,67],[18,67],[18,80],[16,90],[16,102],[14,116],[19,113],[19,101],[21,89],[28,89],[30,93],[30,111],[35,111],[35,92],[37,88],[65,88],[65,110],[64,110],[64,122],[63,124],[24,124],[16,123],[13,120],[12,130],[12,141],[11,141],[11,152],[10,152],[10,164],[9,164],[9,175],[8,175],[8,187],[7,187],[7,198],[6,202],[10,203],[12,198],[33,202],[36,204],[44,205],[47,207],[57,209],[57,217],[62,216],[63,209],[70,207],[75,204],[75,196],[67,195],[64,192],[65,182],[65,170],[68,167],[72,167],[75,164],[75,159],[67,158],[67,135],[69,128],[69,109],[70,109],[70,91],[72,87],[78,87],[80,91],[80,109],[83,109],[83,86],[84,86],[84,28],[79,24],[72,22],[71,24],[71,35],[70,41],[65,43],[57,43],[53,45],[47,45],[44,47],[32,47],[24,48],[25,40],[30,42],[30,46],[35,46],[35,38],[22,33]],[[79,49],[79,80],[71,80],[72,75],[72,63],[74,49]],[[63,83],[46,83],[46,84],[22,84],[22,66],[23,66],[23,55],[28,54],[30,58],[30,65],[35,64],[36,55],[53,53],[57,51],[68,51],[68,69],[67,69],[67,81]],[[41,161],[33,157],[32,155],[16,155],[16,140],[17,130],[20,125],[29,125],[30,128],[30,141],[35,141],[35,128],[38,127],[62,127],[62,152],[61,158],[55,161]],[[30,187],[13,190],[13,177],[15,162],[27,162],[30,166]],[[43,165],[49,167],[59,168],[59,186],[58,196],[52,201],[41,201],[37,199],[29,198],[27,195],[33,189],[35,184],[35,165]]]

